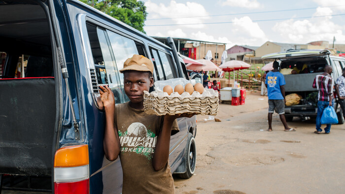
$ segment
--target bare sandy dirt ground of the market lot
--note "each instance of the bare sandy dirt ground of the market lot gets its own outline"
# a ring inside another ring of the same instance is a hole
[[[245,100],[220,104],[221,122],[197,116],[195,174],[174,176],[176,194],[345,193],[345,125],[315,134],[314,120],[294,118],[285,132],[275,113],[269,132],[268,98]]]

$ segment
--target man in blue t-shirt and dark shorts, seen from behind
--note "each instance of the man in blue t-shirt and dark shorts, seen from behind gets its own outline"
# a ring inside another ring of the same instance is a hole
[[[273,62],[273,71],[267,73],[265,85],[268,93],[268,131],[272,131],[272,115],[276,110],[279,114],[281,123],[284,125],[284,131],[295,131],[287,126],[285,120],[285,79],[283,74],[278,71],[279,63]]]

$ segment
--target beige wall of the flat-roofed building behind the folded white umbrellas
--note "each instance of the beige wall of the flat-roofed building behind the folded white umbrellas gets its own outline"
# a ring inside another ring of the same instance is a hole
[[[193,47],[193,43],[186,43],[185,48],[196,48],[196,59],[203,59],[208,50],[211,50],[213,62],[220,64],[222,60],[223,51],[225,51],[225,44],[205,44],[201,43],[198,47]],[[215,58],[215,53],[218,53],[218,59]]]

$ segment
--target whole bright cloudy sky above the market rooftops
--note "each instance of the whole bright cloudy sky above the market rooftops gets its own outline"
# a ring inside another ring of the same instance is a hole
[[[345,44],[345,0],[143,0],[144,30],[172,36],[261,46],[266,41]]]

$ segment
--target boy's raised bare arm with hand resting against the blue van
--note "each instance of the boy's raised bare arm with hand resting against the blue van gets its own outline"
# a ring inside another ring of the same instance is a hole
[[[120,154],[120,140],[117,128],[114,126],[115,100],[110,88],[100,86],[101,99],[105,111],[104,154],[109,161],[114,161]]]

